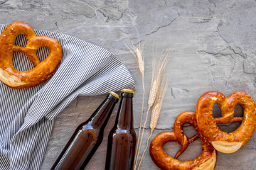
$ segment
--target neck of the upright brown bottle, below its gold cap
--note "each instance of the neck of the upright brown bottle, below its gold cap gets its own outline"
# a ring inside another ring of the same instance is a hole
[[[121,129],[133,128],[132,97],[121,97],[116,122]]]

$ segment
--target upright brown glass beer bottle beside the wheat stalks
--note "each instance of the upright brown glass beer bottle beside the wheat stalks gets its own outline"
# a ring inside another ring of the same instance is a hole
[[[106,170],[133,169],[137,140],[133,127],[133,93],[132,90],[122,89],[117,118],[108,136]]]

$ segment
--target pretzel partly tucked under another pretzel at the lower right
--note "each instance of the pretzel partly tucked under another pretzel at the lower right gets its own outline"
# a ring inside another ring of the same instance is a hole
[[[196,159],[181,162],[176,159],[182,152],[188,147],[188,143],[193,142],[198,137],[192,137],[188,140],[188,137],[183,134],[183,125],[189,123],[197,130],[196,125],[196,113],[183,112],[176,118],[174,122],[174,132],[162,132],[156,135],[151,141],[150,155],[154,163],[159,166],[160,169],[214,169],[217,162],[217,153],[212,145],[210,145],[204,138],[201,138],[202,152]],[[164,151],[163,147],[167,142],[178,142],[181,145],[180,151],[176,154],[175,158],[169,156]]]

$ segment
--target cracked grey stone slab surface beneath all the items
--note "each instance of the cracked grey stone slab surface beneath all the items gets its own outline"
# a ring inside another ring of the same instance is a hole
[[[65,33],[105,47],[117,55],[132,73],[137,85],[134,96],[134,127],[138,131],[142,103],[141,74],[125,47],[129,39],[139,41],[139,30],[145,46],[146,98],[151,81],[151,49],[171,50],[171,83],[164,99],[159,123],[154,135],[172,131],[176,116],[183,111],[195,111],[196,101],[206,91],[220,91],[229,96],[233,91],[245,91],[256,99],[256,1],[185,1],[185,0],[0,0],[1,24],[23,21],[32,28]],[[150,35],[150,36],[149,36]],[[50,169],[75,127],[87,120],[105,98],[79,96],[55,121],[41,169]],[[145,110],[146,110],[145,106]],[[220,111],[215,107],[216,115]],[[86,169],[104,169],[107,135],[112,128],[117,106],[105,129],[105,138]],[[242,108],[236,108],[236,114]],[[239,123],[223,125],[230,132]],[[188,136],[193,128],[185,128]],[[149,135],[146,126],[145,137]],[[145,145],[146,140],[144,140]],[[256,169],[255,135],[234,154],[218,153],[215,169]],[[173,155],[179,146],[165,145]],[[196,158],[201,152],[197,140],[181,155],[181,160]],[[158,169],[146,152],[141,169]]]

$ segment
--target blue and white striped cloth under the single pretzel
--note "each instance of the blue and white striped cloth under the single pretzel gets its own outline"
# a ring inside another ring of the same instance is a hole
[[[10,89],[0,82],[0,169],[40,169],[55,116],[78,95],[134,89],[131,74],[111,52],[69,35],[35,33],[58,40],[63,60],[48,81],[31,89]],[[26,38],[18,36],[16,45],[25,46]],[[46,55],[48,49],[39,48],[39,59]],[[14,67],[26,70],[33,64],[14,52]]]

